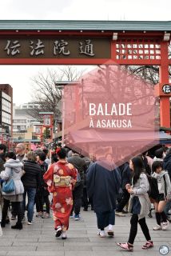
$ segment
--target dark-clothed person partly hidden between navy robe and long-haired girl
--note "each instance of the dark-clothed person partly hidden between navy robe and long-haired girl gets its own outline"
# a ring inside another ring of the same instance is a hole
[[[117,205],[116,215],[124,217],[125,214],[122,213],[125,205],[129,202],[130,194],[125,189],[126,184],[130,183],[131,180],[131,171],[129,168],[129,162],[125,162],[122,166],[119,167],[121,170],[121,188],[123,191],[121,201]]]

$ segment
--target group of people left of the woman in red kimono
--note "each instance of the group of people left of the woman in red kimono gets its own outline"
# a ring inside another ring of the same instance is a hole
[[[0,145],[0,201],[2,207],[1,227],[10,223],[9,208],[11,209],[11,220],[18,218],[12,229],[22,230],[22,222],[33,224],[34,205],[36,204],[37,216],[42,218],[50,217],[49,191],[43,180],[43,174],[48,169],[46,163],[46,150],[36,152],[30,151],[26,154],[24,144],[19,143],[15,152],[7,152],[6,146]],[[48,160],[48,159],[47,159]],[[14,190],[4,191],[3,184],[14,180]],[[27,198],[26,198],[27,197]],[[46,203],[46,211],[43,212],[43,205]],[[41,214],[42,213],[42,214]]]

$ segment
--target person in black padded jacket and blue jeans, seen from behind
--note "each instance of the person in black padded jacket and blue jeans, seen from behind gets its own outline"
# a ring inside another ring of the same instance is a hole
[[[32,224],[34,216],[34,198],[36,190],[40,187],[41,167],[38,165],[36,154],[29,152],[27,154],[28,160],[24,162],[25,174],[22,176],[22,183],[24,185],[23,194],[23,218],[25,217],[26,211],[26,194],[28,196],[28,225]]]

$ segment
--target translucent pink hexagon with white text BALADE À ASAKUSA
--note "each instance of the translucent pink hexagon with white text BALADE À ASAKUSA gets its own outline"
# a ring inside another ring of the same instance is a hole
[[[102,65],[63,92],[65,144],[84,156],[129,161],[158,143],[153,85],[124,66]]]

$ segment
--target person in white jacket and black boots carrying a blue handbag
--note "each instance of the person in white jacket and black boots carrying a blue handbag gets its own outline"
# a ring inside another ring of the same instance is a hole
[[[14,152],[8,152],[6,153],[6,163],[4,164],[5,170],[3,170],[0,174],[0,178],[6,182],[10,178],[13,178],[15,190],[10,193],[5,193],[2,191],[3,199],[4,199],[4,205],[2,209],[2,222],[1,226],[6,226],[6,214],[8,211],[8,208],[10,206],[10,202],[12,204],[12,207],[14,208],[15,212],[18,215],[18,222],[16,225],[11,226],[12,229],[18,229],[22,230],[22,208],[21,208],[21,202],[22,202],[22,194],[24,193],[24,186],[21,181],[22,177],[22,162],[20,162],[18,159],[16,160],[16,155]]]

